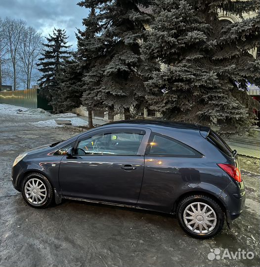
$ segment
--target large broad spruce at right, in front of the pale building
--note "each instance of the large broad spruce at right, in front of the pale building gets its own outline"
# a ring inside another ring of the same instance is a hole
[[[256,0],[156,0],[142,52],[166,68],[151,69],[150,108],[166,119],[218,125],[225,133],[248,129],[259,109],[247,84],[260,85],[260,61],[248,51],[260,44],[260,14],[225,25],[218,11],[242,18],[258,8]]]

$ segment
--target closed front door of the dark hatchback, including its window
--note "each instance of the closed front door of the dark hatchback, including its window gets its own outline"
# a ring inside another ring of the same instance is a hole
[[[92,131],[64,156],[59,183],[65,197],[134,206],[144,172],[149,129],[111,127]]]

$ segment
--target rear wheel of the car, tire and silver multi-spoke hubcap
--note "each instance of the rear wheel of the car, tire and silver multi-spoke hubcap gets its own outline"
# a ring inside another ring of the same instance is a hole
[[[205,195],[191,195],[179,202],[177,219],[187,234],[195,238],[207,239],[222,230],[225,215],[212,198]]]

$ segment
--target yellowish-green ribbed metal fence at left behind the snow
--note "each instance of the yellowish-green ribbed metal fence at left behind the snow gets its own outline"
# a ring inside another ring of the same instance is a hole
[[[39,89],[0,91],[0,103],[26,108],[52,110],[47,100],[39,94]]]

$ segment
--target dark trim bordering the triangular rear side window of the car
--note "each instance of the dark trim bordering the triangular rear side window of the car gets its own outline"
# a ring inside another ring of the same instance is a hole
[[[150,150],[151,150],[151,143],[153,141],[153,138],[154,136],[157,135],[157,136],[160,136],[160,137],[163,137],[165,139],[168,139],[168,140],[172,140],[173,142],[176,142],[176,143],[180,143],[180,145],[183,145],[184,147],[186,146],[188,149],[191,149],[193,150],[196,154],[193,156],[193,155],[179,155],[179,154],[176,154],[176,155],[173,155],[173,154],[150,154]],[[184,144],[183,142],[179,141],[179,140],[176,140],[174,139],[173,137],[170,137],[168,135],[164,135],[164,134],[159,134],[159,133],[156,133],[156,132],[151,132],[151,135],[150,135],[150,138],[148,140],[148,143],[147,143],[147,146],[146,146],[146,149],[145,149],[145,156],[150,156],[150,157],[167,157],[167,158],[203,158],[203,154],[200,153],[198,150],[194,149],[193,147],[187,145],[187,144]]]

